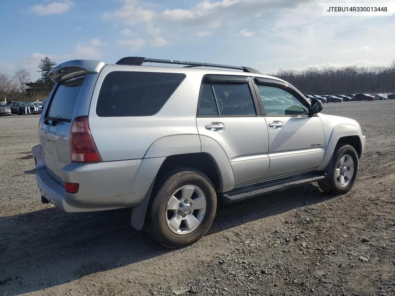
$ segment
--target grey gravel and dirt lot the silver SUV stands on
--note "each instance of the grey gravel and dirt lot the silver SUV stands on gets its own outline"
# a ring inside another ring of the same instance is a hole
[[[39,116],[0,118],[0,296],[395,295],[394,110],[395,100],[324,104],[367,137],[349,194],[312,184],[220,206],[209,234],[175,251],[132,230],[129,210],[41,204]]]

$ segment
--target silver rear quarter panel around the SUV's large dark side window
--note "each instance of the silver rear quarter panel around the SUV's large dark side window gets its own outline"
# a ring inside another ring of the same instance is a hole
[[[93,91],[89,109],[89,127],[103,161],[142,159],[144,157],[167,156],[171,149],[171,137],[174,148],[179,147],[179,135],[196,135],[196,109],[198,104],[201,74],[187,74],[179,87],[173,92],[160,111],[152,116],[99,117],[96,115],[96,103],[100,86],[111,71],[151,71],[169,72],[169,68],[107,65],[103,68]],[[183,73],[175,67],[174,73]],[[158,139],[163,139],[154,144]],[[198,138],[188,137],[188,150],[200,152]],[[161,151],[160,143],[165,143]],[[151,147],[150,151],[147,150]],[[181,150],[183,151],[183,150]],[[184,153],[190,153],[184,152]],[[179,151],[176,151],[179,152]],[[147,155],[146,155],[147,153]],[[177,154],[177,153],[174,153]]]

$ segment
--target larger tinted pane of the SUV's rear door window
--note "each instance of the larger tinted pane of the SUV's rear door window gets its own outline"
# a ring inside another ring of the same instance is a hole
[[[250,87],[246,83],[214,84],[220,116],[256,115]]]

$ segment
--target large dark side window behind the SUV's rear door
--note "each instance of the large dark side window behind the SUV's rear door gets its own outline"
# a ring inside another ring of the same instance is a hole
[[[126,72],[107,74],[100,88],[100,117],[156,114],[184,80],[182,73]]]

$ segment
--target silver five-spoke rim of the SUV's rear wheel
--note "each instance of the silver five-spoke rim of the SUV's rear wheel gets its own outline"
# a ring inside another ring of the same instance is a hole
[[[177,189],[166,206],[166,222],[171,231],[188,234],[200,225],[206,213],[206,197],[195,185]]]

